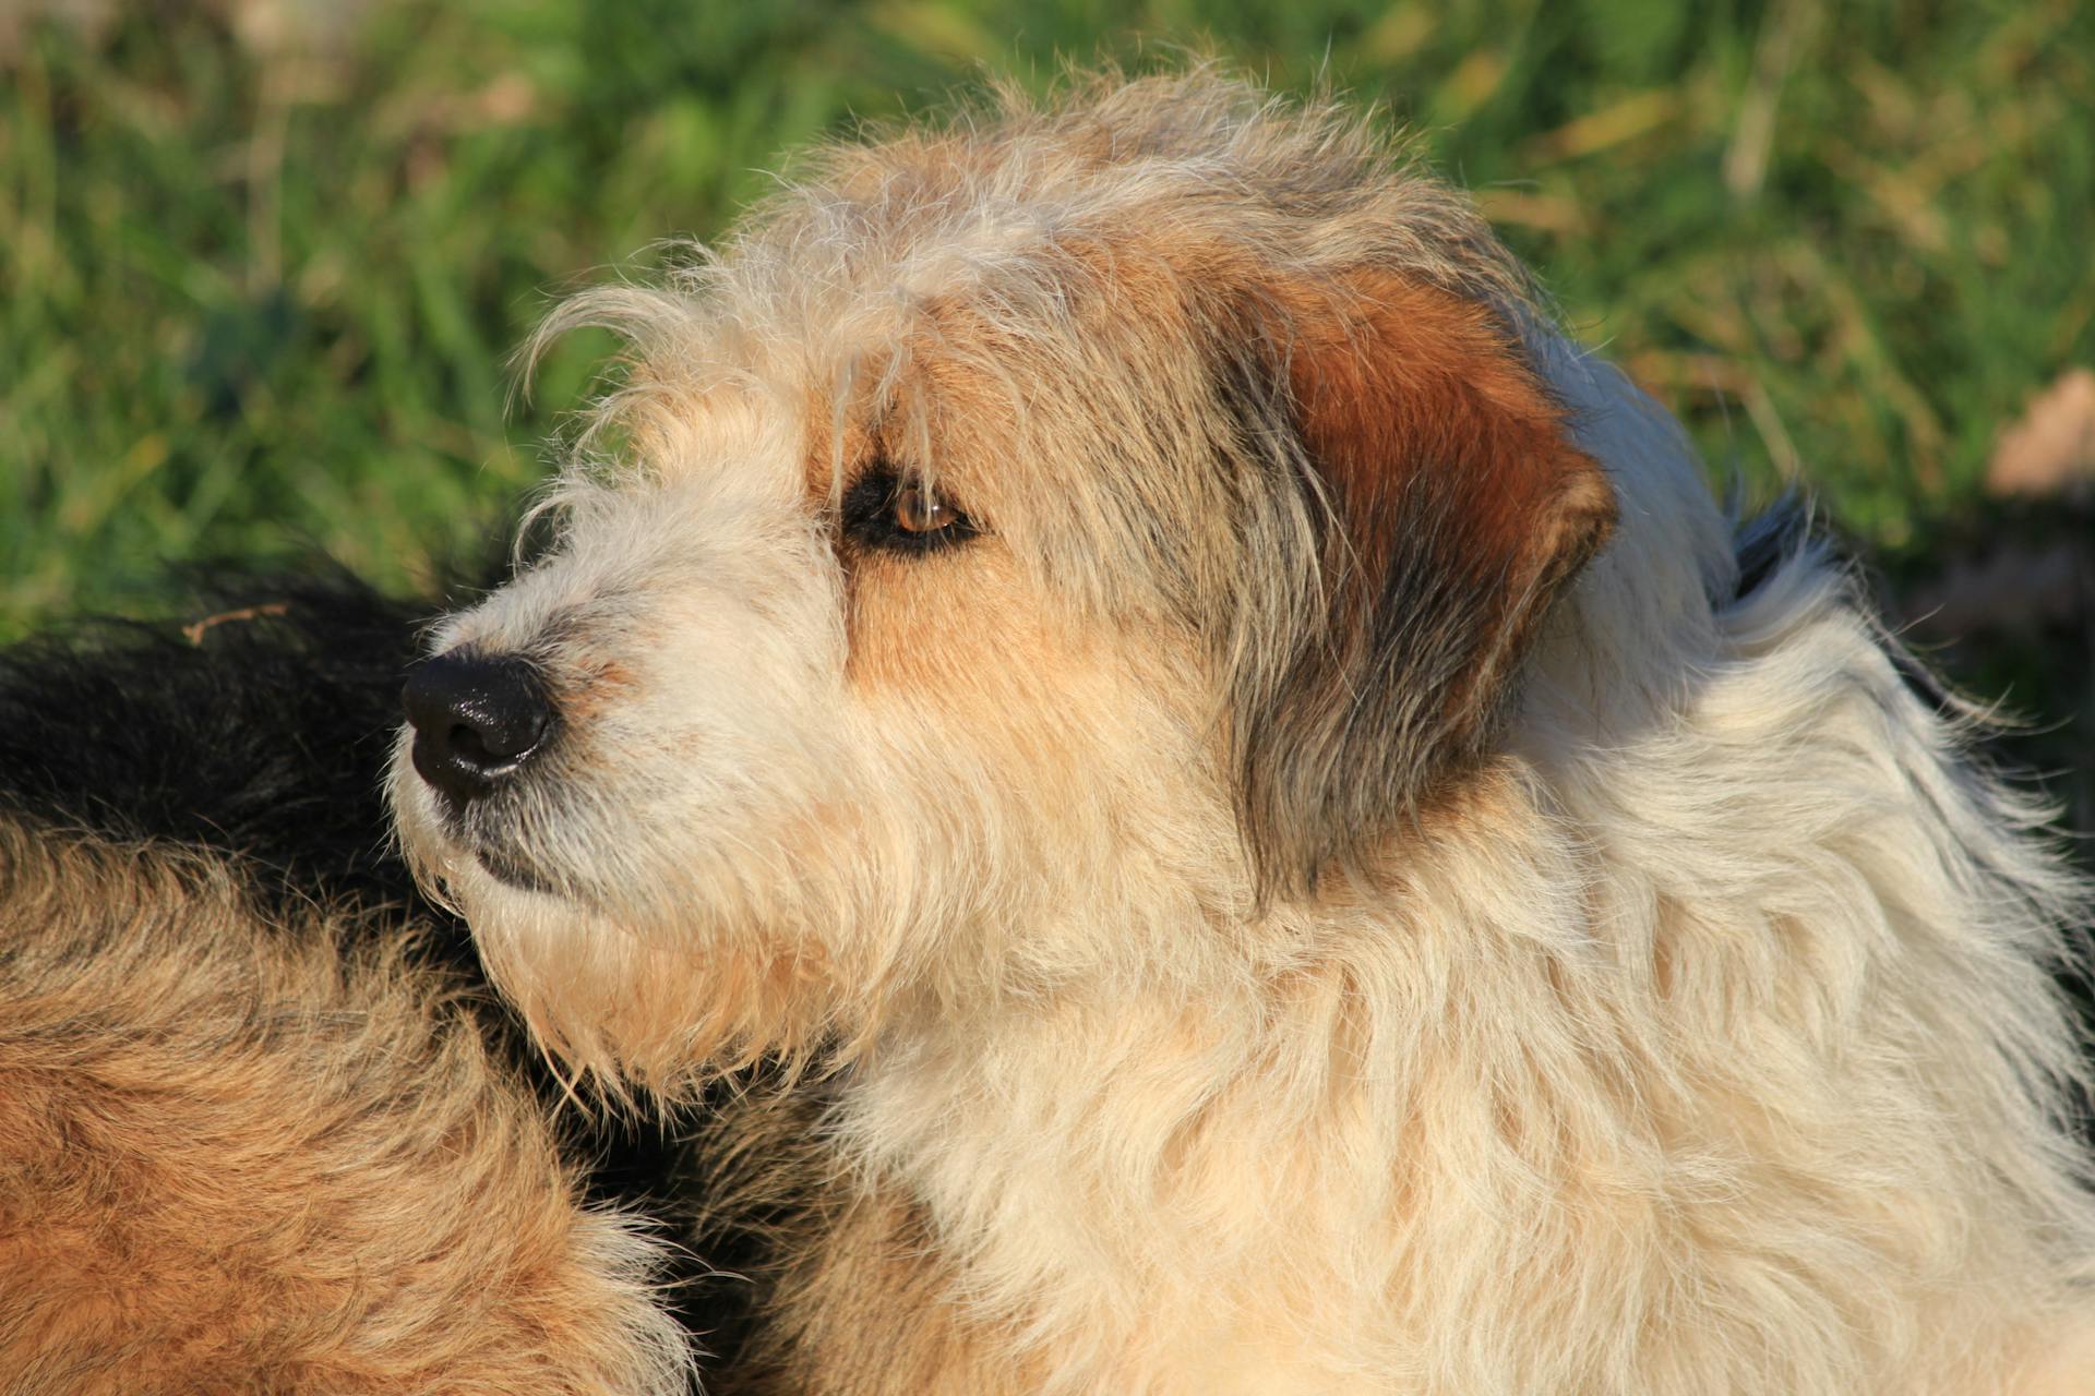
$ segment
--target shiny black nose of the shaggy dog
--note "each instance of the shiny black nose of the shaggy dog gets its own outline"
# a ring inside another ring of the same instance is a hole
[[[538,670],[509,655],[450,651],[417,663],[400,691],[415,770],[457,802],[480,800],[545,749],[553,705]]]

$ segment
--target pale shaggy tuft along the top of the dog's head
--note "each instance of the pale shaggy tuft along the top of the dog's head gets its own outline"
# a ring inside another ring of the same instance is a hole
[[[1121,251],[1188,276],[1374,266],[1502,306],[1529,293],[1402,138],[1205,69],[1004,90],[943,130],[819,151],[727,239],[708,291],[742,324],[863,352],[934,299],[1054,312],[1073,257],[1110,280]]]

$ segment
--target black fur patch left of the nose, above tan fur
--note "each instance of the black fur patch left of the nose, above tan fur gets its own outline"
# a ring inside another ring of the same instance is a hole
[[[199,601],[189,634],[96,622],[17,645],[0,653],[0,800],[237,854],[270,904],[438,921],[379,800],[421,617],[348,578],[262,580]]]

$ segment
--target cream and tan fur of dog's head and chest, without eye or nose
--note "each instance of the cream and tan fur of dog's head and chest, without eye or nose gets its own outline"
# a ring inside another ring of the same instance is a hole
[[[559,735],[392,795],[576,1069],[830,1072],[790,1390],[2095,1386],[2041,810],[1368,123],[1008,96],[585,322],[432,640]],[[983,536],[838,538],[872,460]]]

